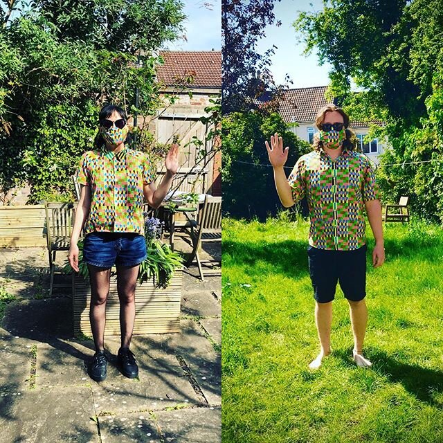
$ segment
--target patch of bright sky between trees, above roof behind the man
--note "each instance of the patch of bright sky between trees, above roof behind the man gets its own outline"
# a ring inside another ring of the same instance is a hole
[[[311,3],[312,6],[309,4]],[[278,47],[272,57],[271,72],[276,83],[284,83],[286,73],[289,73],[293,84],[291,88],[326,86],[329,84],[327,73],[331,66],[328,63],[318,66],[317,54],[314,51],[306,57],[303,44],[297,43],[296,30],[292,24],[300,11],[323,9],[321,0],[282,0],[275,1],[275,19],[282,21],[282,26],[268,26],[266,38],[258,45],[259,52],[264,53],[273,44]]]

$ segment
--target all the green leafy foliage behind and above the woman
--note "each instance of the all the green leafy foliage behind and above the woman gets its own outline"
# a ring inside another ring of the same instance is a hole
[[[21,2],[7,3],[0,30],[0,189],[4,196],[28,180],[31,202],[66,199],[105,102],[144,115],[159,107],[155,66],[162,60],[150,49],[177,37],[183,4],[42,0],[11,18],[7,11]]]

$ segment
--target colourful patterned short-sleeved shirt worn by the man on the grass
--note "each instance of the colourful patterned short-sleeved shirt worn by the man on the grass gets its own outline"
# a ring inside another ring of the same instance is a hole
[[[309,244],[351,251],[365,244],[365,202],[381,199],[364,154],[343,150],[335,161],[323,149],[298,159],[288,178],[294,201],[307,197]]]

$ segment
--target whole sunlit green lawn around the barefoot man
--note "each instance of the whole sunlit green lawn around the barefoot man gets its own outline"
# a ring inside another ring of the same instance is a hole
[[[373,367],[352,362],[337,287],[332,356],[314,372],[308,230],[302,219],[224,219],[223,442],[443,442],[442,229],[420,221],[384,228],[386,264],[373,269],[368,254]]]

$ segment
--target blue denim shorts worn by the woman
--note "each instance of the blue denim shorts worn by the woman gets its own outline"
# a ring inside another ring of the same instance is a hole
[[[83,261],[93,266],[136,266],[146,257],[145,237],[141,234],[96,232],[84,238]]]

